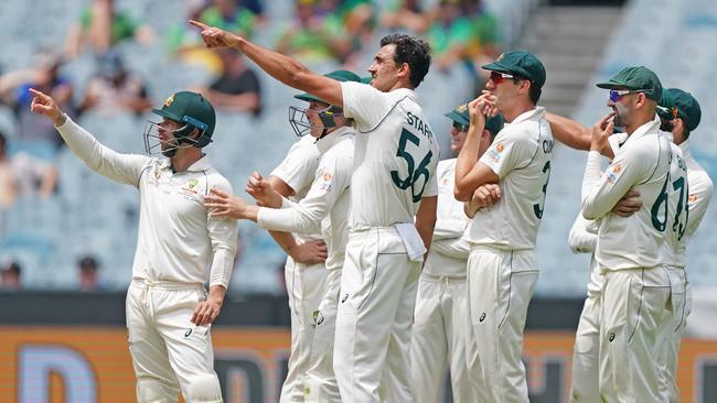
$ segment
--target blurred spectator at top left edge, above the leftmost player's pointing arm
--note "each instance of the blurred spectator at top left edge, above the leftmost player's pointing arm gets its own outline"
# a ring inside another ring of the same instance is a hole
[[[148,25],[117,10],[114,0],[92,0],[83,10],[79,21],[69,29],[65,51],[67,57],[75,58],[85,45],[89,45],[93,52],[101,55],[129,39],[149,44],[154,40],[154,33]]]

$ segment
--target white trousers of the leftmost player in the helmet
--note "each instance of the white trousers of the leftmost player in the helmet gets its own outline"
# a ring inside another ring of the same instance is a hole
[[[133,280],[127,291],[129,352],[140,403],[222,402],[210,327],[190,320],[206,299],[200,284]]]

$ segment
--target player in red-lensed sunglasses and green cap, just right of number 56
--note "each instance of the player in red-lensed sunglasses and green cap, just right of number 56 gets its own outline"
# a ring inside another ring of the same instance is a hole
[[[490,402],[527,402],[521,361],[527,306],[537,282],[535,239],[543,218],[553,137],[537,107],[545,68],[528,52],[509,52],[488,65],[486,91],[470,104],[471,128],[456,164],[456,198],[497,184],[497,200],[469,224],[468,370]],[[484,115],[500,111],[505,128],[479,159]]]

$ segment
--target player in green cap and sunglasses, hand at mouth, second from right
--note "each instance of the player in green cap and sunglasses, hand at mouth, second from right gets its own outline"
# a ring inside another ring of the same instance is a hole
[[[645,67],[627,67],[598,87],[610,89],[612,113],[593,127],[582,182],[582,215],[600,219],[596,260],[604,275],[600,312],[600,396],[607,402],[665,401],[656,336],[671,297],[663,268],[672,149],[655,117],[662,84]],[[612,120],[614,119],[614,120]],[[613,127],[628,140],[604,174],[599,150]],[[643,202],[629,217],[608,214],[629,192]]]

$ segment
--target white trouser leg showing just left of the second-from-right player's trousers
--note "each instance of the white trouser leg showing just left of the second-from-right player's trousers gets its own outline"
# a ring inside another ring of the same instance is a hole
[[[571,403],[600,403],[600,295],[585,299],[572,347]]]

